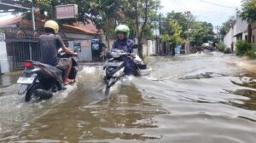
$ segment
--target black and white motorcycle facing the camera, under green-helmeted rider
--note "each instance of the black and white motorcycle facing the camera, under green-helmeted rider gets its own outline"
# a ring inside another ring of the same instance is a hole
[[[133,49],[137,49],[138,45],[134,45]],[[109,94],[110,88],[117,82],[121,77],[125,76],[125,61],[120,60],[121,57],[125,56],[131,58],[136,63],[136,69],[134,69],[134,76],[141,76],[142,71],[147,69],[147,65],[138,56],[133,59],[130,53],[125,53],[123,50],[112,49],[107,51],[105,54],[107,59],[103,66],[103,79],[106,83],[105,95]]]

